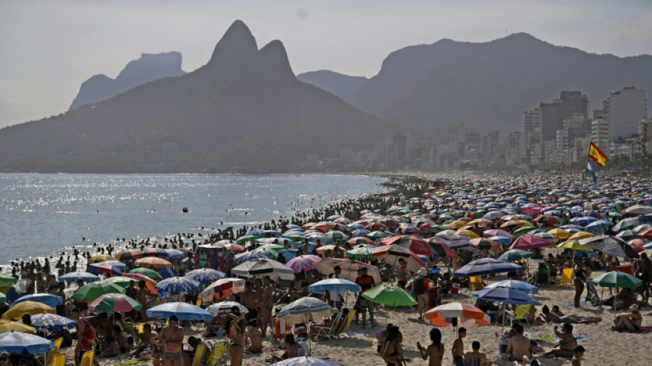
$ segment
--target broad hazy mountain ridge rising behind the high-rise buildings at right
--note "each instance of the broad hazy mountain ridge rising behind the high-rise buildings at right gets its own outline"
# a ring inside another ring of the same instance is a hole
[[[652,56],[587,54],[520,33],[487,43],[442,39],[405,47],[345,100],[427,132],[458,124],[511,131],[522,128],[524,111],[560,91],[579,90],[601,108],[611,91],[632,84],[652,93]]]

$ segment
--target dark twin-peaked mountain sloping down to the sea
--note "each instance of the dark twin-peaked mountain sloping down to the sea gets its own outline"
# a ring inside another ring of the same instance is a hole
[[[236,21],[196,71],[1,129],[0,171],[299,171],[395,130],[296,80],[280,41],[259,50]]]

